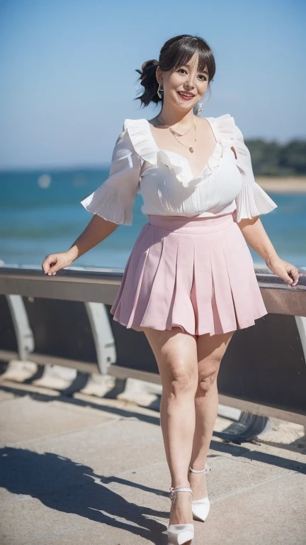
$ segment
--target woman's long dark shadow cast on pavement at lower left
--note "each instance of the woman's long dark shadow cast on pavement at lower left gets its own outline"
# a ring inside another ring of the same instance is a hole
[[[50,509],[123,529],[156,545],[167,544],[166,534],[161,533],[166,526],[147,517],[167,518],[168,512],[130,503],[105,485],[115,480],[164,495],[160,490],[142,487],[128,480],[101,477],[89,466],[54,453],[39,454],[23,448],[6,447],[0,449],[0,456],[0,487],[9,492],[30,495]]]

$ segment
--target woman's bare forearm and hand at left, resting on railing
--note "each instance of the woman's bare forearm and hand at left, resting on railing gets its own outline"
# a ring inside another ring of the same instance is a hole
[[[118,224],[113,221],[103,219],[97,214],[91,218],[89,224],[80,234],[76,241],[70,246],[69,250],[61,253],[50,253],[42,263],[42,270],[46,275],[55,275],[57,271],[68,267],[77,258],[94,248],[102,242],[108,235],[111,235]]]

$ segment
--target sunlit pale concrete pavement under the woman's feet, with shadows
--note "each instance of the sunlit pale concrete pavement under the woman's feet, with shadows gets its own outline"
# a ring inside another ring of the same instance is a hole
[[[39,380],[38,380],[39,383]],[[1,545],[166,545],[169,470],[159,413],[125,399],[0,380]],[[271,419],[259,441],[210,445],[193,545],[305,545],[306,440]]]

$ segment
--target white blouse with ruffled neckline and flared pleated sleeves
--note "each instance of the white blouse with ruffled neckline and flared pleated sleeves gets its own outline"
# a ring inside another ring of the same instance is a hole
[[[220,216],[237,210],[240,221],[277,208],[255,182],[251,155],[234,118],[224,114],[205,119],[216,144],[196,177],[183,155],[158,148],[147,119],[125,119],[107,180],[81,204],[108,221],[125,225],[132,224],[138,193],[146,215]]]

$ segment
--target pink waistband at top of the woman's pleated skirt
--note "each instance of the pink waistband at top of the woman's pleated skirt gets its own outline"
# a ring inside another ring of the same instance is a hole
[[[166,231],[176,231],[179,233],[214,233],[222,231],[234,224],[232,214],[224,216],[159,216],[157,214],[148,215],[149,225],[165,229]]]

